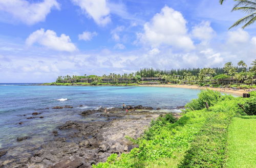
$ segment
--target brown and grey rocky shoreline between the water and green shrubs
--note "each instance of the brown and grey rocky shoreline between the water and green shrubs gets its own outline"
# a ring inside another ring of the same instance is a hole
[[[28,153],[14,157],[12,152],[15,149],[1,149],[0,167],[91,167],[105,161],[112,153],[129,152],[136,145],[125,136],[140,137],[151,121],[164,113],[141,105],[126,108],[128,113],[121,108],[109,108],[107,113],[104,113],[104,108],[83,111],[81,116],[96,115],[106,120],[68,121],[52,132],[54,141],[28,149]],[[66,135],[59,134],[59,131],[65,131]],[[27,138],[18,137],[17,141],[26,141]]]

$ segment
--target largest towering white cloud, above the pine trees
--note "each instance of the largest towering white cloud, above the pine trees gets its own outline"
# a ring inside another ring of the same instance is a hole
[[[186,50],[195,48],[187,34],[184,17],[167,6],[144,24],[144,33],[138,34],[138,40],[152,47],[167,45]]]

